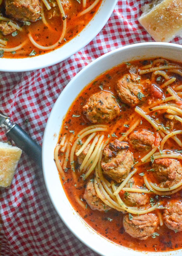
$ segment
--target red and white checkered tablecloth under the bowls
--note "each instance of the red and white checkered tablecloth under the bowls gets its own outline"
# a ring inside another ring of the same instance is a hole
[[[101,32],[59,64],[37,71],[0,72],[0,110],[42,145],[52,106],[84,66],[124,45],[153,41],[137,21],[145,2],[118,1]],[[172,43],[182,44],[182,39],[175,38]],[[7,139],[2,129],[0,136],[1,141]],[[49,199],[42,170],[24,153],[12,185],[0,190],[0,255],[97,255],[64,225]]]

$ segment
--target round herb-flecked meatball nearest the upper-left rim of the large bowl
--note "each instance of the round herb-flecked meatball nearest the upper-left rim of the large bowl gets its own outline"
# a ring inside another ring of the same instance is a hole
[[[96,92],[83,106],[84,114],[92,123],[109,123],[120,113],[120,108],[111,92]]]

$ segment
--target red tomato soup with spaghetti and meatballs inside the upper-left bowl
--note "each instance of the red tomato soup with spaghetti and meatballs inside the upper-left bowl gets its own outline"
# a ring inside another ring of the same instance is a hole
[[[45,54],[79,34],[102,0],[0,0],[0,57]]]

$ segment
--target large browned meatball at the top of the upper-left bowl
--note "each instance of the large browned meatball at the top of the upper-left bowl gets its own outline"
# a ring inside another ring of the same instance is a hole
[[[20,21],[36,21],[40,17],[39,0],[5,0],[6,15]]]

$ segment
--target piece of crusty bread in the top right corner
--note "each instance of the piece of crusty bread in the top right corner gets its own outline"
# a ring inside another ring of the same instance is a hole
[[[138,21],[157,42],[182,35],[182,0],[155,0],[141,7]]]

